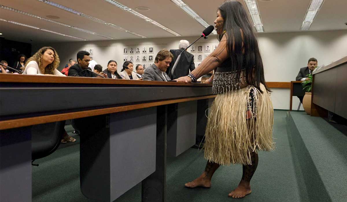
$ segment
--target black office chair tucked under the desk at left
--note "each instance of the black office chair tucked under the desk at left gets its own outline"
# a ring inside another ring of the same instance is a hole
[[[65,121],[33,125],[31,128],[32,165],[35,159],[46,157],[60,145],[64,135]],[[38,165],[35,165],[38,166]]]

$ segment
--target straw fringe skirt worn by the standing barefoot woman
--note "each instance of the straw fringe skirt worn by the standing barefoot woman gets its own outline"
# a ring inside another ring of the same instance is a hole
[[[249,100],[251,90],[253,103]],[[264,93],[248,86],[241,91],[217,95],[206,126],[206,159],[220,165],[251,165],[251,152],[274,149],[272,102],[262,84],[261,90]],[[247,107],[249,109],[252,104],[253,112],[247,118]]]

